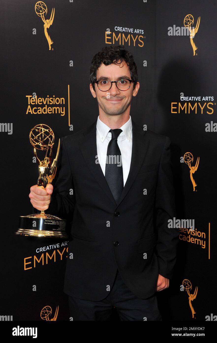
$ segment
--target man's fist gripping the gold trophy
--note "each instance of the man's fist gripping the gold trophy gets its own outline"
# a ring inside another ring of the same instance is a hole
[[[51,184],[47,184],[45,189],[43,186],[32,186],[29,193],[32,206],[39,211],[47,210],[51,202],[52,192],[53,186]]]

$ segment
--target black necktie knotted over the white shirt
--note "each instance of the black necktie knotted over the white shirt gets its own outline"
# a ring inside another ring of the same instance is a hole
[[[107,149],[105,178],[117,203],[124,188],[121,151],[117,141],[122,130],[113,129],[109,132],[111,132],[111,140]]]

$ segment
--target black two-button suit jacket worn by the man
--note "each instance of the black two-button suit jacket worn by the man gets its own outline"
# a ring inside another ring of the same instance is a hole
[[[176,215],[170,140],[132,125],[130,172],[118,203],[95,163],[96,121],[61,138],[46,213],[72,223],[64,292],[73,297],[104,299],[117,268],[139,298],[155,293],[159,274],[172,277],[179,231],[168,228]]]

